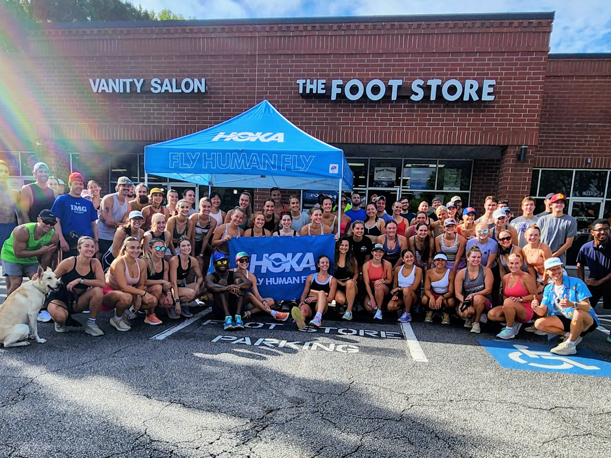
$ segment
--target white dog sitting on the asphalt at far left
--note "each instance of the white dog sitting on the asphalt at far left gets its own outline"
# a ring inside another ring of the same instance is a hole
[[[38,336],[38,312],[45,305],[45,297],[53,289],[57,291],[61,282],[49,267],[46,272],[38,267],[38,279],[24,283],[13,291],[0,305],[0,343],[5,347],[29,345],[27,338],[38,343],[46,340]],[[28,325],[29,323],[29,325]]]

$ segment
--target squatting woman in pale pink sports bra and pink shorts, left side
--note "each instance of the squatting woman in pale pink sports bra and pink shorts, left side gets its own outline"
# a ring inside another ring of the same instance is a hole
[[[139,258],[141,253],[140,241],[135,237],[126,238],[119,250],[119,257],[112,261],[106,272],[101,310],[115,309],[110,322],[117,331],[131,329],[125,312],[132,304],[134,313],[142,308],[147,314],[153,313],[157,305],[156,297],[147,293],[144,287],[147,261]]]

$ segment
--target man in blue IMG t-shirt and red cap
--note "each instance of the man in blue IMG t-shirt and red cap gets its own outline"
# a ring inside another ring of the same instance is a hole
[[[95,250],[98,251],[98,226],[95,224],[98,214],[93,203],[81,197],[84,186],[85,178],[81,173],[70,173],[68,178],[70,193],[57,197],[51,208],[57,217],[55,230],[59,234],[59,244],[62,252],[65,253],[64,258],[78,255],[76,243],[83,235],[93,238]]]

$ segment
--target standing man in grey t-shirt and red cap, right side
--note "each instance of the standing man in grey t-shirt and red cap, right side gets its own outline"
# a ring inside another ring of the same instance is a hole
[[[573,245],[577,235],[577,220],[563,213],[566,206],[566,195],[562,192],[549,199],[552,213],[541,216],[537,223],[541,228],[541,242],[549,245],[552,256],[566,262],[566,250]]]

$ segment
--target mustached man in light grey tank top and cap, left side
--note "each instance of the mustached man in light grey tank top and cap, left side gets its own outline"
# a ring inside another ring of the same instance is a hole
[[[131,211],[128,200],[130,189],[134,185],[127,176],[120,176],[115,187],[117,192],[104,195],[100,203],[100,220],[98,230],[100,231],[100,253],[106,253],[112,245],[114,233],[117,227],[122,225]]]

